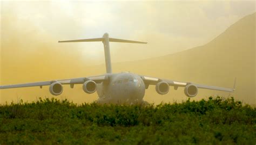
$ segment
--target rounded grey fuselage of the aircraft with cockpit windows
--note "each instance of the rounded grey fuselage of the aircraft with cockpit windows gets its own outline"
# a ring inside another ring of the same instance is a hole
[[[109,81],[97,84],[98,103],[143,102],[145,84],[142,78],[132,73],[109,76]]]

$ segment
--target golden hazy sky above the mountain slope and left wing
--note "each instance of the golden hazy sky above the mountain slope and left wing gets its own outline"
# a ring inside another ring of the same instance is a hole
[[[105,63],[100,42],[58,40],[147,41],[110,44],[113,63],[141,60],[204,45],[253,12],[255,1],[1,1],[0,84],[84,77],[77,69]]]

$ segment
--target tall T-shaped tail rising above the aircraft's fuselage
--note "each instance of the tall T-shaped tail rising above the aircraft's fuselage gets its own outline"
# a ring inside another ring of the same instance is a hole
[[[106,63],[106,73],[112,73],[109,42],[125,42],[125,43],[133,43],[133,44],[147,44],[147,42],[109,38],[109,34],[107,34],[107,33],[105,33],[102,38],[66,40],[66,41],[59,41],[59,42],[95,42],[95,41],[102,41],[103,42],[104,53],[105,53],[105,63]]]

